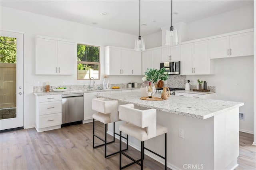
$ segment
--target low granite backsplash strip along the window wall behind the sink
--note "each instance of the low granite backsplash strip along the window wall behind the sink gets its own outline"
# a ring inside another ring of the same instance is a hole
[[[138,83],[137,88],[140,88],[142,83]],[[112,86],[119,86],[121,89],[128,88],[127,83],[122,83],[122,84],[111,84]],[[59,86],[50,86],[50,91],[52,89],[56,89],[58,87],[66,87],[68,90],[88,90],[89,85],[59,85]],[[103,89],[102,84],[95,84],[92,85],[91,89]],[[38,92],[44,92],[45,91],[45,86],[34,86],[33,87],[33,93],[38,93]]]

